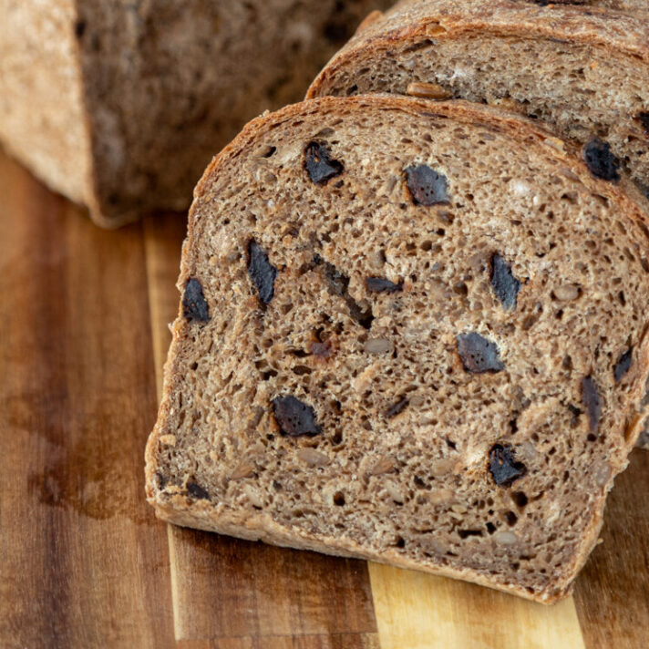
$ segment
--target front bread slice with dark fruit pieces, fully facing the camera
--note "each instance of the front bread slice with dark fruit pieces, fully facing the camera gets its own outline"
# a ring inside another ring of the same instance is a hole
[[[642,214],[489,107],[255,119],[195,191],[149,502],[556,601],[643,424]]]

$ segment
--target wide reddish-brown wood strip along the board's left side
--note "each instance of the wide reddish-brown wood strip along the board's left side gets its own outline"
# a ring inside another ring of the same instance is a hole
[[[98,230],[1,155],[0,196],[0,645],[172,646],[141,227]]]

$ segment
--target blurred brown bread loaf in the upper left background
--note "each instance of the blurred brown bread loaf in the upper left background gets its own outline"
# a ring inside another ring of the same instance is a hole
[[[249,118],[389,0],[0,3],[0,142],[98,224],[188,207]]]

